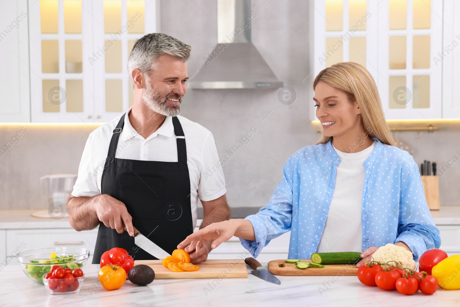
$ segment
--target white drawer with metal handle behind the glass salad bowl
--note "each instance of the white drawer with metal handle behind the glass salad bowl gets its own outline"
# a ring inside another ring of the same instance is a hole
[[[18,264],[16,255],[20,251],[66,246],[89,249],[91,263],[97,235],[98,227],[82,232],[72,228],[7,229],[6,259],[8,264]]]

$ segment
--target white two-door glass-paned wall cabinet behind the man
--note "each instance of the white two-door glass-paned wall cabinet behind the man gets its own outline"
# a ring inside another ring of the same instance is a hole
[[[66,28],[79,20],[81,29]],[[128,55],[156,24],[156,0],[29,1],[31,121],[109,122],[126,112]]]

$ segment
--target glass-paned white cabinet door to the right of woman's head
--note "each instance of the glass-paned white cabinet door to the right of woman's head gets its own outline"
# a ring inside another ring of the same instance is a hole
[[[386,119],[442,117],[443,1],[379,5],[379,87]]]

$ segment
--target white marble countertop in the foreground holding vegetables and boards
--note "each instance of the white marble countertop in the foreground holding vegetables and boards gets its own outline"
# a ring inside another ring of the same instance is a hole
[[[250,270],[252,269],[249,268],[248,272]],[[433,295],[424,295],[420,291],[414,295],[403,295],[396,290],[385,291],[377,287],[365,286],[356,276],[279,276],[281,285],[268,283],[251,273],[248,278],[224,278],[220,282],[217,279],[156,279],[147,286],[138,286],[127,280],[120,289],[107,291],[98,282],[98,265],[87,264],[83,271],[86,277],[80,292],[50,295],[43,285],[36,284],[26,277],[19,266],[0,268],[0,305],[2,307],[460,306],[460,290],[440,288]],[[328,282],[329,285],[326,284]],[[323,289],[322,293],[321,289]]]

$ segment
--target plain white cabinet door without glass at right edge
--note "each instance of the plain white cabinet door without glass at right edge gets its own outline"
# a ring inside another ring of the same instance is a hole
[[[460,3],[444,0],[443,51],[437,62],[443,66],[443,118],[460,118]]]

